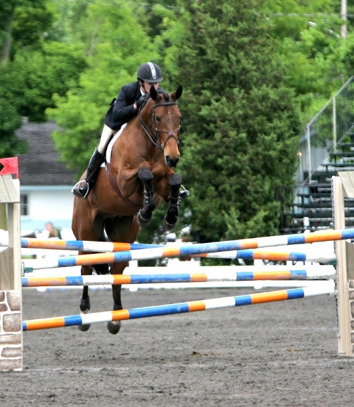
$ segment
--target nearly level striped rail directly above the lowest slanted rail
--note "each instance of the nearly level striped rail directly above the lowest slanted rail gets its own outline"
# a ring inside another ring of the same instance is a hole
[[[95,286],[120,284],[151,284],[151,283],[199,283],[207,281],[258,281],[258,280],[298,280],[327,278],[335,275],[324,273],[318,275],[307,270],[289,271],[240,271],[240,272],[208,272],[156,275],[94,275],[94,276],[59,276],[59,277],[22,277],[23,287],[50,286]]]

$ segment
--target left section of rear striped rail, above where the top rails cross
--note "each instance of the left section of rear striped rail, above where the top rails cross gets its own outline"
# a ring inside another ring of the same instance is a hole
[[[0,246],[8,246],[8,244],[0,242]],[[21,237],[21,247],[105,253],[140,250],[143,248],[156,248],[161,247],[161,245],[143,243],[91,242],[89,240],[40,240],[32,237]]]

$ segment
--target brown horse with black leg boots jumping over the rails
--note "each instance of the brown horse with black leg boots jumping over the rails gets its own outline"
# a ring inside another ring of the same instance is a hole
[[[133,243],[140,227],[152,219],[152,213],[163,200],[168,202],[163,219],[170,230],[178,222],[182,178],[174,172],[180,159],[179,133],[181,114],[177,100],[182,86],[174,93],[158,93],[154,86],[150,97],[131,119],[115,141],[110,160],[99,169],[95,187],[86,199],[75,196],[72,229],[77,240]],[[81,180],[85,179],[86,172]],[[181,194],[183,191],[181,192]],[[80,252],[80,254],[82,254]],[[86,253],[87,254],[87,253]],[[119,275],[128,262],[95,265],[97,274]],[[92,275],[92,266],[82,266],[81,275]],[[113,310],[122,310],[121,286],[112,286]],[[91,308],[88,286],[80,299],[83,314]],[[90,325],[80,325],[87,331]],[[121,321],[107,324],[117,334]]]

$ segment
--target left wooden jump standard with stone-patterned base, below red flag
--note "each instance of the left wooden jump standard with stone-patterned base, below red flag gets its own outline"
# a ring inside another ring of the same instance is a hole
[[[1,161],[4,159],[0,159]],[[23,368],[19,180],[2,175],[0,204],[7,205],[8,248],[0,251],[0,371]]]

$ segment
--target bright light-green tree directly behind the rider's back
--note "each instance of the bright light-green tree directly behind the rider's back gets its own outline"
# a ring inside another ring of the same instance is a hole
[[[117,8],[108,8],[105,1],[97,1],[88,5],[80,24],[86,28],[85,38],[92,38],[84,43],[88,68],[67,95],[54,95],[56,108],[47,111],[62,128],[53,135],[60,156],[78,169],[78,176],[97,145],[113,97],[123,84],[137,79],[141,63],[159,62],[150,38],[137,21],[134,5],[119,3]]]

